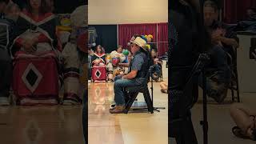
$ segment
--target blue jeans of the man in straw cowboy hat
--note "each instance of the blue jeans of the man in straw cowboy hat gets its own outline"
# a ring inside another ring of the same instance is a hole
[[[117,106],[125,105],[125,87],[140,86],[135,79],[121,79],[122,76],[118,75],[114,78],[114,102]]]

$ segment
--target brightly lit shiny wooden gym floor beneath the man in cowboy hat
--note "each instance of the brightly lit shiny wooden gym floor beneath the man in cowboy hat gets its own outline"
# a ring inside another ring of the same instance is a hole
[[[166,80],[166,68],[163,75]],[[89,144],[168,143],[168,98],[161,93],[159,82],[154,82],[154,106],[166,107],[160,113],[110,114],[113,99],[113,83],[89,84]],[[142,94],[138,101],[144,101]]]

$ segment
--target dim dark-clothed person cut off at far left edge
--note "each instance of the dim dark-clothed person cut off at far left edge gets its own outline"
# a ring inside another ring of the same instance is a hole
[[[8,1],[0,0],[0,106],[10,105],[9,91],[12,78],[12,62],[7,50],[8,39],[6,39],[6,25],[9,22],[3,18],[7,4]]]

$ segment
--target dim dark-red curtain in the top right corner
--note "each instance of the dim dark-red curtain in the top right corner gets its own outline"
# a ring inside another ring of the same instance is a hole
[[[224,22],[237,23],[246,19],[246,10],[256,7],[255,0],[225,0]]]

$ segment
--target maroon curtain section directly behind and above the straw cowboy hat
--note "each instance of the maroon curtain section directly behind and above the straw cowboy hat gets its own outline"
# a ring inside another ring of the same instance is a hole
[[[130,38],[134,34],[153,35],[153,42],[156,41],[157,24],[122,24],[118,25],[118,45],[127,47]]]

